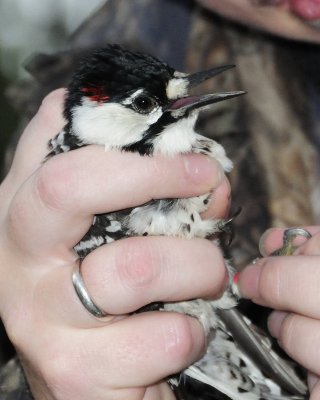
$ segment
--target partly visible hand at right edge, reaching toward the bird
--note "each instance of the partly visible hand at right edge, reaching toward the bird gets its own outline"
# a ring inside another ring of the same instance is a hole
[[[320,226],[306,227],[313,236],[297,238],[293,256],[269,255],[282,246],[283,229],[270,229],[260,240],[261,258],[240,275],[241,294],[273,308],[268,321],[280,346],[308,371],[310,399],[320,397]]]

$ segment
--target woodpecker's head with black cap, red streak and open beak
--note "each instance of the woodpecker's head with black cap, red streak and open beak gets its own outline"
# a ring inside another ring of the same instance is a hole
[[[190,88],[231,67],[185,74],[118,45],[96,50],[83,60],[69,86],[68,132],[84,145],[140,154],[189,151],[199,110],[244,93],[190,96]]]

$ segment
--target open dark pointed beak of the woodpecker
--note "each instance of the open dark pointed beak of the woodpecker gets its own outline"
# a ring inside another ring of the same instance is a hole
[[[188,87],[194,87],[207,79],[213,78],[228,69],[234,68],[234,65],[223,65],[221,67],[211,68],[205,71],[196,72],[194,74],[184,77],[188,81]],[[186,96],[174,100],[166,111],[178,111],[179,114],[184,115],[192,110],[199,109],[210,104],[218,103],[220,101],[228,100],[233,97],[245,94],[244,91],[213,93],[205,95]]]

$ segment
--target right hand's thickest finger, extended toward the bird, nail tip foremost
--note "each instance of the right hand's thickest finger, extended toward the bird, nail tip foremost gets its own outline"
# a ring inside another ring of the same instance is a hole
[[[245,268],[238,285],[258,304],[320,318],[319,279],[317,256],[268,257]]]

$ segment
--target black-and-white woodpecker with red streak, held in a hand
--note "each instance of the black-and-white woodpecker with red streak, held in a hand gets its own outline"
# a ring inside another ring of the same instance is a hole
[[[200,110],[244,92],[190,95],[189,91],[231,67],[187,74],[151,55],[116,44],[93,51],[83,59],[68,87],[64,106],[67,122],[49,141],[47,159],[97,144],[106,150],[141,156],[205,154],[229,172],[233,165],[224,148],[198,134],[194,126]],[[96,215],[75,251],[84,258],[103,244],[146,235],[214,238],[219,244],[219,233],[229,221],[201,218],[209,197],[210,193],[188,199],[151,200],[131,209]],[[185,398],[181,393],[188,380],[201,382],[219,394],[210,399],[303,399],[306,387],[293,368],[236,310],[234,271],[228,261],[226,267],[230,286],[219,300],[158,305],[163,311],[198,318],[211,337],[206,355],[179,376],[169,378],[169,384],[181,399]],[[260,367],[259,362],[265,365]]]

